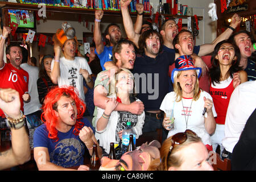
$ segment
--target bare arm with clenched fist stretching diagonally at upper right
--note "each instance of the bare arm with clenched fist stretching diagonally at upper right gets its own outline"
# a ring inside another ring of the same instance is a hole
[[[232,22],[230,23],[230,27],[236,29],[238,25],[240,25],[241,17],[237,14],[232,16]],[[205,56],[209,53],[213,52],[214,47],[217,43],[221,42],[222,40],[229,39],[230,35],[232,35],[233,30],[231,28],[226,28],[221,35],[219,35],[216,39],[213,40],[211,44],[203,44],[200,46],[199,56]]]

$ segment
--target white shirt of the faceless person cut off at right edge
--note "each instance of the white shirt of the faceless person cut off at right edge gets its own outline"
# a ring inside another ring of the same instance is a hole
[[[225,138],[222,145],[233,152],[247,119],[256,108],[256,80],[246,81],[234,89],[226,112]]]

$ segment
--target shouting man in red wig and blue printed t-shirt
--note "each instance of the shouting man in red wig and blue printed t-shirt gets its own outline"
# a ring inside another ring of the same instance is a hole
[[[92,155],[93,143],[98,155],[102,150],[94,137],[90,122],[82,118],[85,104],[77,96],[77,89],[63,86],[52,89],[43,105],[43,125],[34,134],[34,158],[39,170],[88,170],[84,166],[85,150]]]

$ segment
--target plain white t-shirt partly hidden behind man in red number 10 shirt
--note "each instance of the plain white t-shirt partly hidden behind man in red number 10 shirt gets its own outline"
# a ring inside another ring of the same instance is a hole
[[[30,102],[24,102],[24,114],[28,115],[34,113],[35,111],[41,110],[41,104],[38,97],[38,73],[39,68],[28,65],[27,63],[20,64],[20,68],[28,72],[29,81],[28,81],[28,93],[30,94]]]

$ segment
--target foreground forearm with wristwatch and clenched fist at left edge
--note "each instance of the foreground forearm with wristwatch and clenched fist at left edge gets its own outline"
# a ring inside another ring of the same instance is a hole
[[[19,93],[14,89],[0,89],[0,108],[12,119],[22,119]],[[23,124],[22,124],[23,122]],[[12,123],[12,122],[11,122]],[[18,166],[30,160],[30,142],[23,121],[11,127],[11,149],[0,153],[0,170]]]

